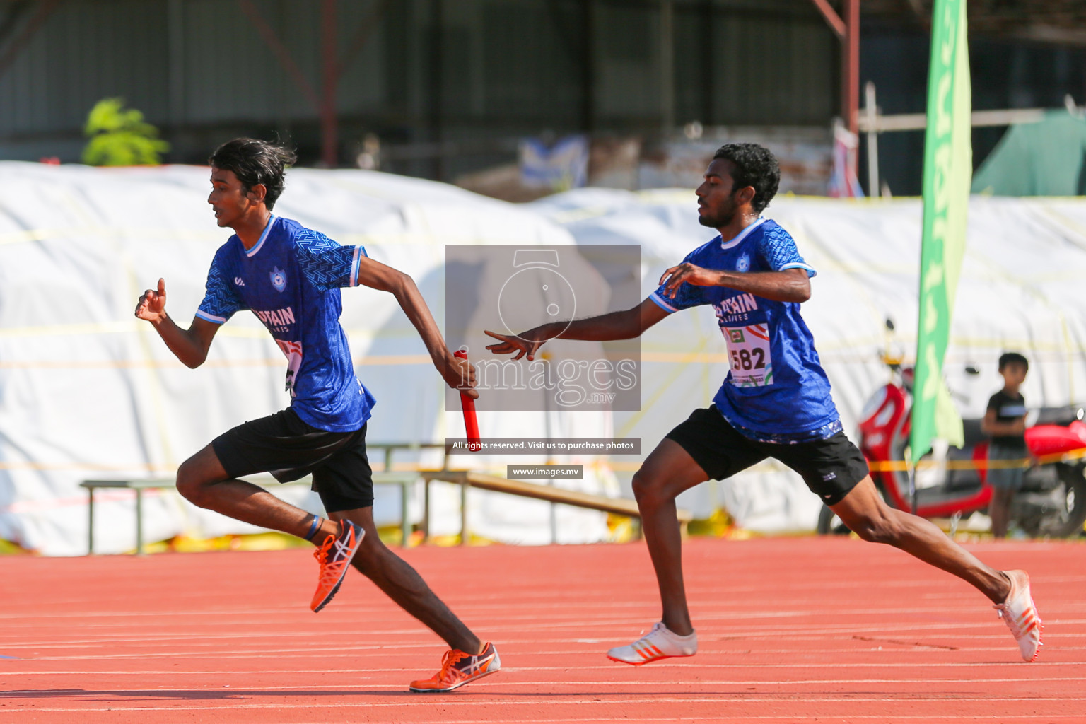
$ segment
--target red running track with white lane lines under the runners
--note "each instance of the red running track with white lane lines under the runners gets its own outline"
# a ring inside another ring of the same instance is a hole
[[[406,691],[444,647],[356,572],[310,612],[304,550],[4,557],[0,724],[1086,721],[1086,545],[969,547],[1031,572],[1037,662],[968,585],[857,539],[690,541],[700,652],[640,668],[604,651],[658,617],[643,545],[415,548],[503,658],[449,695]]]

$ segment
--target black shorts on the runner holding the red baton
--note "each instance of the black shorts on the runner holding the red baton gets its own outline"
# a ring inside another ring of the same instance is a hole
[[[270,472],[288,483],[312,474],[327,512],[374,505],[365,424],[353,432],[328,432],[288,407],[227,430],[211,444],[230,478]]]

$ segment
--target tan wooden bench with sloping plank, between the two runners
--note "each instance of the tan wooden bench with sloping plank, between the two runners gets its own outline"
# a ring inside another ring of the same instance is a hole
[[[488,475],[485,473],[472,472],[470,470],[421,470],[419,471],[419,474],[426,481],[425,495],[422,498],[422,520],[425,525],[424,539],[428,539],[430,536],[430,482],[434,480],[460,486],[460,545],[467,545],[470,537],[467,513],[467,497],[469,487],[478,487],[482,491],[507,493],[509,495],[517,495],[525,498],[548,500],[551,503],[574,506],[578,508],[589,508],[591,510],[599,510],[602,512],[628,516],[630,518],[637,519],[639,523],[641,522],[641,511],[637,509],[637,504],[629,498],[611,498],[604,495],[582,493],[580,491],[568,491],[561,487],[540,485],[538,483],[529,483],[522,480],[508,480],[507,478]],[[682,526],[682,532],[685,535],[686,524],[693,520],[694,516],[689,510],[677,508],[675,517],[679,519],[679,524]]]

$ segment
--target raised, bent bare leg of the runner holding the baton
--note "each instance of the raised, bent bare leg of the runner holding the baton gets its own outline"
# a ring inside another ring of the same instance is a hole
[[[177,470],[177,492],[195,506],[245,523],[300,538],[310,531],[310,513],[280,500],[260,485],[227,475],[211,445],[181,463]]]

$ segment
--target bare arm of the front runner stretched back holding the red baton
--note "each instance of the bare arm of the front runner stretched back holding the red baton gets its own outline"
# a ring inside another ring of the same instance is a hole
[[[430,307],[426,305],[426,300],[415,285],[415,280],[399,269],[393,269],[380,262],[375,262],[368,256],[358,258],[359,285],[378,289],[382,292],[391,292],[400,303],[400,308],[404,310],[411,323],[418,330],[422,338],[422,344],[430,353],[433,366],[438,368],[441,377],[444,378],[449,386],[466,393],[469,397],[478,397],[479,393],[475,388],[475,367],[466,359],[457,359],[445,346],[445,340],[441,336],[438,322],[430,314]],[[465,382],[466,380],[466,382]]]

